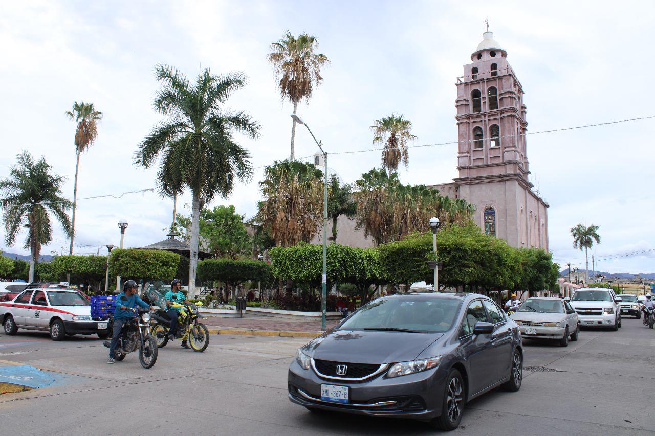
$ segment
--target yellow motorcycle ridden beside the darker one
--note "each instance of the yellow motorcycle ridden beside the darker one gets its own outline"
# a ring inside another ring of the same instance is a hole
[[[202,304],[198,304],[202,307]],[[155,325],[153,325],[153,336],[157,341],[159,348],[164,348],[168,344],[168,335],[173,335],[176,339],[189,340],[191,349],[195,352],[202,353],[209,346],[209,331],[198,318],[207,319],[198,315],[198,306],[196,304],[179,304],[171,302],[170,308],[179,308],[177,331],[170,331],[170,318],[166,315],[166,310],[159,309],[153,314]]]

